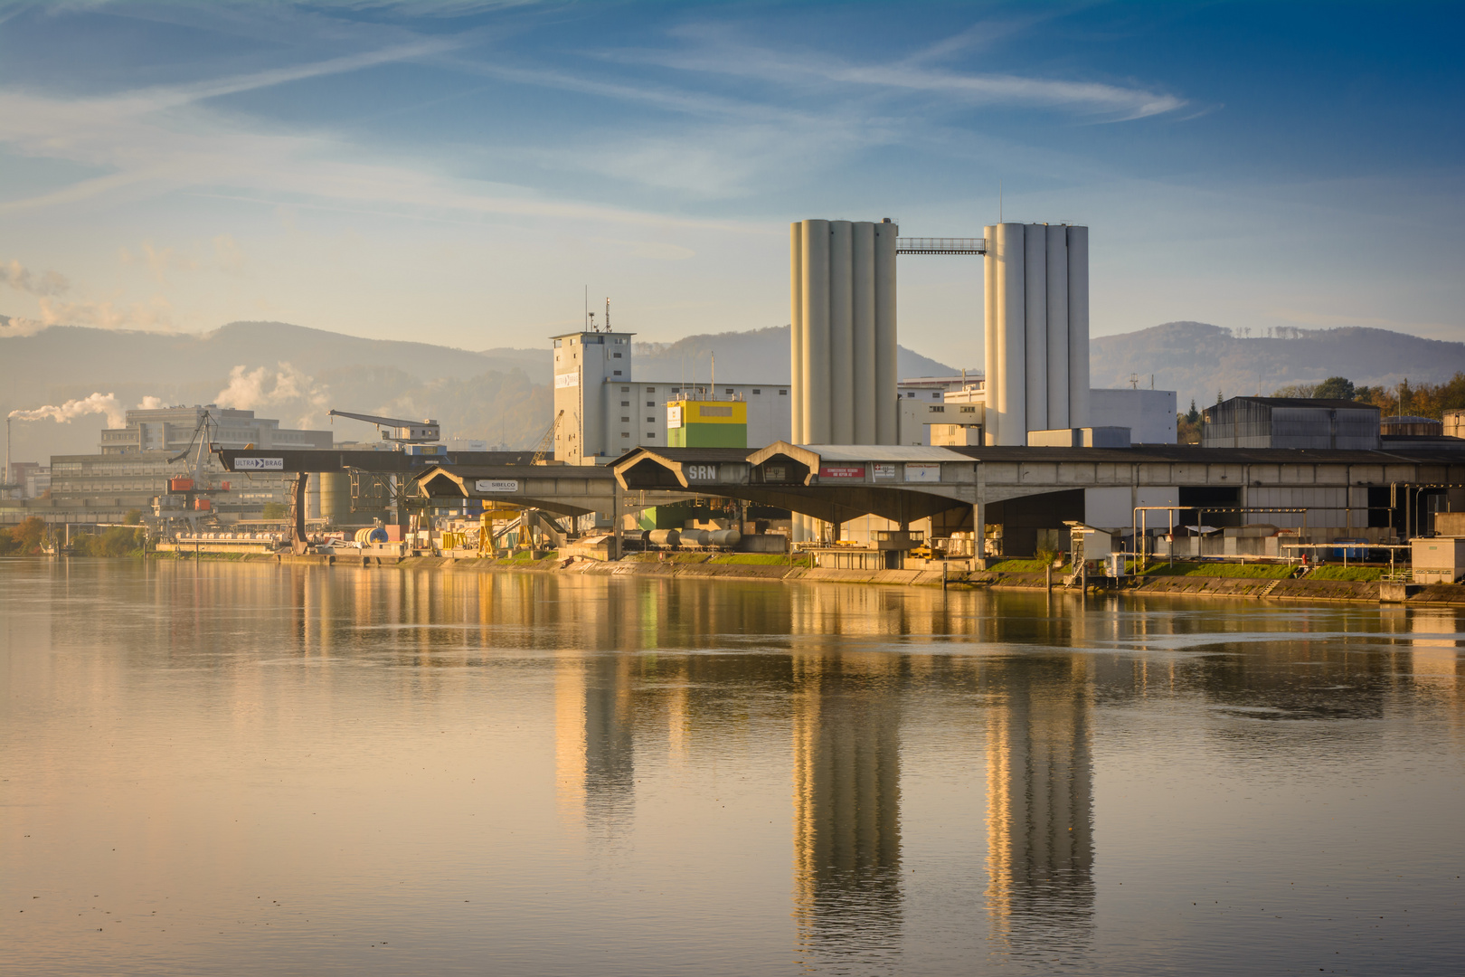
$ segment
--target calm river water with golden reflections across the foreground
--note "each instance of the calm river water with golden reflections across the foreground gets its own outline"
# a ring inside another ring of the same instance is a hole
[[[1459,974],[1461,624],[0,561],[0,968]]]

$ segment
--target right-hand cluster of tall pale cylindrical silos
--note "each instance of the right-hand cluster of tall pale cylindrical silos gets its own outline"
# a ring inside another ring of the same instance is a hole
[[[1088,229],[986,229],[987,444],[1088,425]]]

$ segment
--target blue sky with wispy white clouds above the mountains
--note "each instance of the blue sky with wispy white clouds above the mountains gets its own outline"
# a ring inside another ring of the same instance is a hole
[[[788,321],[788,223],[1091,229],[1093,333],[1465,340],[1450,4],[0,0],[0,335]],[[982,365],[977,258],[902,344]]]

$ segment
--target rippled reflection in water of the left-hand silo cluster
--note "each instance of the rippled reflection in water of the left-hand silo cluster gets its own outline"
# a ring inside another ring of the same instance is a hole
[[[806,965],[900,951],[901,664],[793,661],[794,918]]]

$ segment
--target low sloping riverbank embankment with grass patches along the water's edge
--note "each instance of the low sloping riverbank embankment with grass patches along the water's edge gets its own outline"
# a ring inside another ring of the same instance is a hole
[[[171,554],[160,558],[171,560]],[[185,554],[182,558],[195,558]],[[886,586],[948,587],[971,590],[1043,590],[1047,586],[1042,573],[1002,571],[951,571],[942,574],[939,565],[926,570],[832,570],[807,567],[803,562],[743,564],[699,560],[623,560],[599,562],[592,560],[456,560],[451,557],[406,557],[379,560],[374,557],[340,555],[264,555],[264,554],[202,554],[201,560],[229,562],[277,562],[289,565],[337,565],[337,567],[397,567],[400,570],[454,570],[470,573],[582,573],[605,577],[658,577],[658,579],[725,579],[725,580],[807,580],[829,583],[870,583]],[[1097,580],[1096,580],[1097,583]],[[1062,592],[1062,582],[1055,576],[1053,590]],[[1408,605],[1455,605],[1465,606],[1465,584],[1431,584],[1409,587],[1403,603]],[[1185,598],[1256,598],[1267,601],[1351,601],[1377,603],[1379,583],[1362,580],[1308,580],[1308,579],[1261,579],[1261,577],[1206,577],[1206,576],[1154,576],[1128,577],[1109,593],[1144,596]]]

